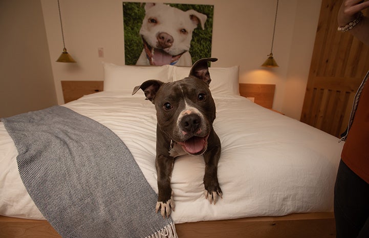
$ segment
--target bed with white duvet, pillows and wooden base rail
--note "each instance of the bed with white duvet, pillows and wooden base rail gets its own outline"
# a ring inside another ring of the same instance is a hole
[[[62,106],[110,128],[157,192],[155,107],[143,92],[132,96],[132,90],[147,79],[179,80],[189,68],[103,67],[102,92]],[[177,158],[171,218],[178,236],[334,236],[333,189],[343,142],[240,96],[238,67],[211,67],[210,76],[217,110],[214,129],[222,143],[218,176],[223,199],[216,205],[205,200],[201,157]],[[60,237],[25,189],[16,157],[14,142],[0,122],[2,237]]]

